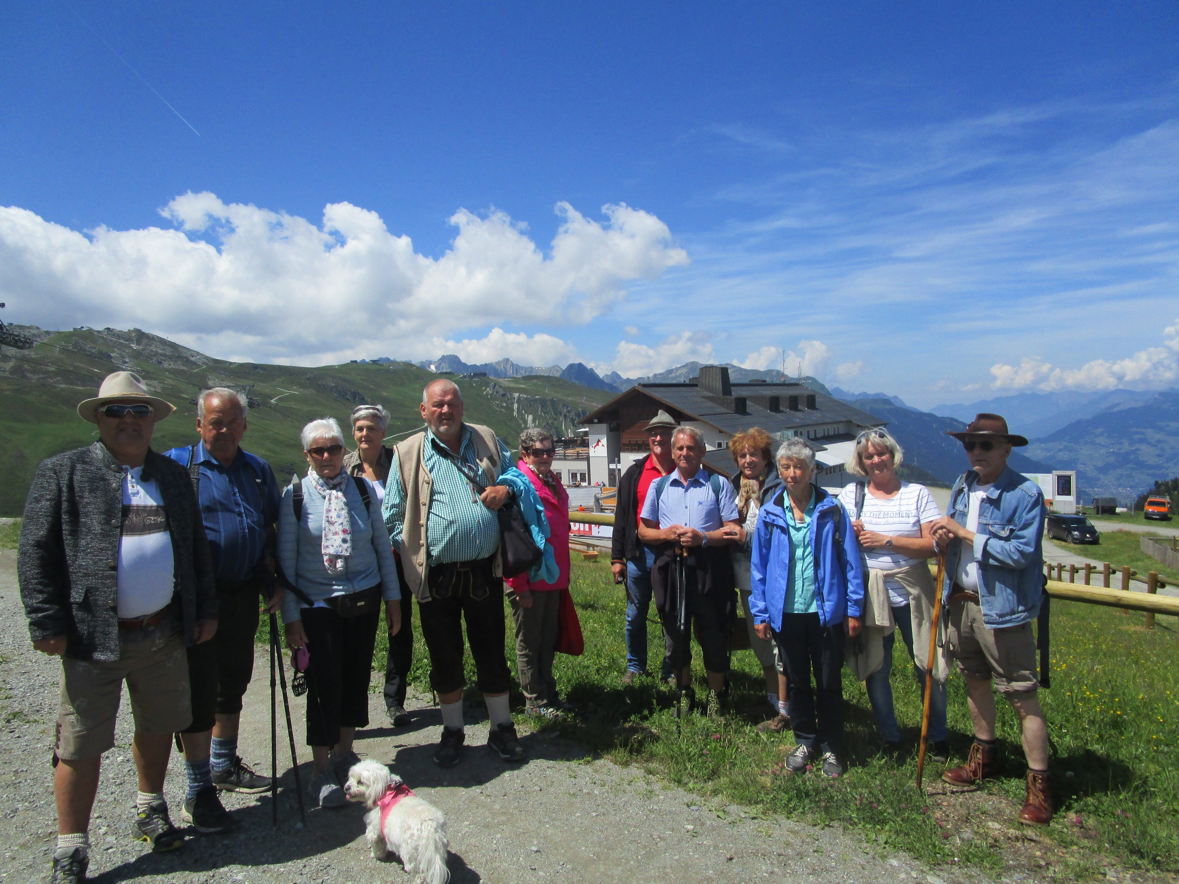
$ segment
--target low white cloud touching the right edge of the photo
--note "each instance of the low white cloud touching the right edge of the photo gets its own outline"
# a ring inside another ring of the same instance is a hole
[[[1118,387],[1154,387],[1179,378],[1179,319],[1162,330],[1164,345],[1139,350],[1117,362],[1093,359],[1079,369],[1056,368],[1039,357],[1025,357],[1019,367],[999,363],[990,374],[996,389],[1113,390]]]

